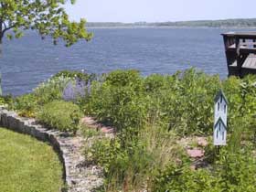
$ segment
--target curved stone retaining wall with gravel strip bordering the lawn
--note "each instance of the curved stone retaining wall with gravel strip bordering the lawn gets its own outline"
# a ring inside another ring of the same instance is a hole
[[[84,164],[82,137],[69,137],[67,133],[48,130],[37,124],[34,119],[19,117],[16,112],[8,112],[5,109],[0,109],[0,124],[15,132],[26,133],[51,144],[63,164],[63,178],[69,192],[91,192],[102,186],[101,169],[95,165]]]

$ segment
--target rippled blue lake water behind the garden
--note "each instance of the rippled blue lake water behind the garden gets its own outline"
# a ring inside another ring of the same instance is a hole
[[[62,69],[86,69],[102,73],[113,69],[139,69],[143,75],[173,74],[196,67],[208,74],[227,77],[220,33],[240,31],[225,28],[91,28],[90,42],[71,48],[34,32],[4,42],[0,59],[3,91],[19,95]]]

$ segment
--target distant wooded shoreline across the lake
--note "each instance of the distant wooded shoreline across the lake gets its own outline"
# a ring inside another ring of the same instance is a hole
[[[157,22],[157,23],[89,22],[87,26],[88,27],[256,27],[256,18]]]

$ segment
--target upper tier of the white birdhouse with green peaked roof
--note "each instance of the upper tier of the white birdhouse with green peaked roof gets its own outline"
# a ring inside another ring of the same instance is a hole
[[[219,121],[219,118],[227,127],[227,116],[228,116],[228,101],[223,93],[219,91],[215,97],[215,106],[214,106],[214,124]]]

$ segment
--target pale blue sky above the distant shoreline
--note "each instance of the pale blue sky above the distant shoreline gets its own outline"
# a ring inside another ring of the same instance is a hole
[[[67,5],[73,20],[159,22],[256,17],[255,0],[77,0]]]

